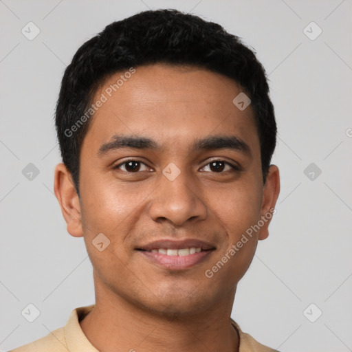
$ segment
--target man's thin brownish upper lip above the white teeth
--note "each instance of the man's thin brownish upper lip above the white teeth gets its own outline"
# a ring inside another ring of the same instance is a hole
[[[159,248],[170,249],[170,250],[181,250],[183,248],[201,248],[202,250],[214,250],[215,247],[207,241],[201,241],[199,239],[183,239],[183,240],[172,240],[172,239],[159,239],[157,241],[149,242],[146,245],[137,247],[137,250],[155,250]]]

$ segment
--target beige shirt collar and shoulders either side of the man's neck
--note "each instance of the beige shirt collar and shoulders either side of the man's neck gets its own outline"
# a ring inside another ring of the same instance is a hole
[[[93,308],[94,305],[89,305],[74,309],[65,327],[56,329],[39,340],[9,352],[98,352],[86,338],[79,324],[79,321]],[[248,333],[243,333],[233,320],[231,323],[239,333],[239,352],[275,352],[274,349],[256,342]]]

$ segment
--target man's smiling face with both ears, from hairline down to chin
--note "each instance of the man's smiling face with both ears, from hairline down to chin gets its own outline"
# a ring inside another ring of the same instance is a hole
[[[234,105],[230,78],[158,64],[112,90],[121,75],[96,92],[107,100],[83,141],[79,201],[56,168],[67,229],[84,236],[99,292],[160,314],[205,311],[233,298],[267,236],[277,168],[263,185],[252,107]]]

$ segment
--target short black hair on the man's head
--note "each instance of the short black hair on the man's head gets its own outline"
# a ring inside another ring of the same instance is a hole
[[[265,183],[276,146],[276,122],[263,65],[238,36],[217,23],[173,9],[148,10],[107,25],[77,50],[65,69],[56,105],[56,131],[63,163],[78,195],[80,149],[91,121],[87,109],[96,90],[115,72],[154,63],[208,69],[241,85],[254,109]]]

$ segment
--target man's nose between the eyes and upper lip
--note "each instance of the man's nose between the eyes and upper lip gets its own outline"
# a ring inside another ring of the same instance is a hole
[[[184,225],[188,220],[204,220],[207,208],[199,193],[199,187],[184,171],[173,181],[161,175],[159,186],[153,192],[149,217],[159,223],[169,221],[177,226]]]

